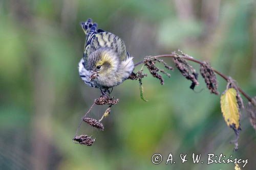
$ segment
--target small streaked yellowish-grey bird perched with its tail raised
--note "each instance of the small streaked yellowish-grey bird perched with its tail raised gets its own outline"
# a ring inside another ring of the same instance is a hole
[[[86,34],[83,57],[78,64],[79,75],[87,85],[101,90],[125,81],[134,70],[133,57],[126,51],[121,38],[110,32],[97,29],[97,23],[89,18],[80,22]]]

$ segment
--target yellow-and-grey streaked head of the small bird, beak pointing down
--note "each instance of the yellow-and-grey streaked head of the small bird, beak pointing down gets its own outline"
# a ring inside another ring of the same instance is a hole
[[[91,72],[89,81],[114,75],[118,65],[119,58],[110,48],[99,48],[86,57],[84,62],[84,67]]]

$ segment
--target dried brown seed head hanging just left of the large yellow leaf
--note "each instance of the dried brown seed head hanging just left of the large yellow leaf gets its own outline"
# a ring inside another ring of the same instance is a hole
[[[214,72],[214,69],[210,66],[209,62],[203,62],[200,67],[200,73],[204,78],[207,88],[210,90],[210,93],[219,94],[218,82]]]

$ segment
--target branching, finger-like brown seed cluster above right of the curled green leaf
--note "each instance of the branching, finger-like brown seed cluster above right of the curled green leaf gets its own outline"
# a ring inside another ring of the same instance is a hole
[[[167,65],[163,60],[160,60],[158,58],[155,58],[155,57],[146,57],[144,59],[144,65],[147,67],[147,69],[150,71],[150,74],[159,79],[160,80],[160,83],[161,85],[164,84],[164,80],[163,80],[163,77],[162,75],[160,75],[158,73],[158,71],[162,72],[162,74],[165,74],[166,76],[170,77],[170,74],[168,74],[166,71],[164,71],[163,69],[159,69],[155,64],[156,64],[156,61],[158,61],[159,63],[163,63],[164,64],[164,67],[167,68],[168,70],[172,70],[173,67]]]

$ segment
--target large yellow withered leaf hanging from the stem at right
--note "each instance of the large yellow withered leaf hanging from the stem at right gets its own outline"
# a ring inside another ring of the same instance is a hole
[[[234,125],[238,130],[240,114],[236,89],[229,88],[221,95],[221,112],[227,125],[229,127]]]

